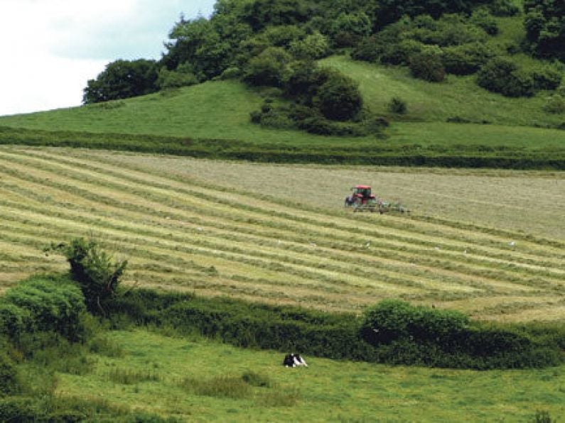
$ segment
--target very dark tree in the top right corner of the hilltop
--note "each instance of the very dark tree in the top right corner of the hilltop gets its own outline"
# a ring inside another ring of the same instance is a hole
[[[525,0],[524,27],[537,55],[565,61],[565,2]]]

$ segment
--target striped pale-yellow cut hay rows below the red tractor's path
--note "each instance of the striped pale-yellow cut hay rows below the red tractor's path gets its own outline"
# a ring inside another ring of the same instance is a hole
[[[551,307],[546,319],[565,318],[559,241],[418,214],[324,210],[142,160],[0,150],[1,287],[64,269],[42,248],[89,234],[127,257],[127,282],[142,286],[350,311],[401,297],[489,319]]]

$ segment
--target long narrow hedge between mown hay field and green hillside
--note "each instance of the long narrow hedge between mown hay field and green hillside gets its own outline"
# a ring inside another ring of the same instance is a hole
[[[518,148],[468,145],[382,145],[310,148],[257,145],[233,140],[191,139],[117,133],[38,131],[0,126],[0,144],[166,153],[195,158],[250,160],[267,163],[323,163],[431,167],[491,167],[565,170],[565,150],[527,152]]]

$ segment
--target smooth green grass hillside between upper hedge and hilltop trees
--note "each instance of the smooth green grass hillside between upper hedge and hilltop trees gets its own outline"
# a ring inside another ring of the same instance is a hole
[[[322,65],[337,67],[360,82],[365,104],[376,114],[389,114],[387,104],[395,96],[407,101],[409,113],[400,120],[392,117],[389,138],[385,140],[375,140],[374,136],[323,137],[301,131],[277,131],[249,121],[249,113],[262,104],[264,92],[247,89],[240,82],[213,81],[107,104],[3,116],[0,126],[222,139],[282,150],[324,151],[343,149],[344,145],[451,149],[464,145],[556,155],[565,149],[565,131],[546,128],[564,121],[562,115],[542,111],[547,93],[532,99],[508,99],[480,89],[473,77],[450,76],[446,82],[433,84],[409,77],[402,67],[355,62],[345,56],[330,57]],[[446,122],[454,116],[475,123]],[[491,124],[480,124],[483,121]]]

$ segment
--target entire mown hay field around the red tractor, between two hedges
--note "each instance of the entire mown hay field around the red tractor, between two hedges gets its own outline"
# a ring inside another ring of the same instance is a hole
[[[129,284],[327,310],[399,297],[479,319],[565,319],[559,174],[387,170],[395,189],[370,169],[239,166],[1,148],[1,287],[65,269],[42,248],[92,234],[129,259]],[[345,211],[356,182],[414,211]]]

